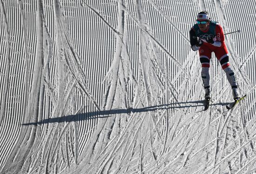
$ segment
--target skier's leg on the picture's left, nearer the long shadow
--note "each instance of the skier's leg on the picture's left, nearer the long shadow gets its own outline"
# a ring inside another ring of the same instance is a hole
[[[211,51],[206,46],[201,46],[199,50],[200,62],[202,64],[202,82],[205,90],[205,98],[210,98],[211,90],[210,90],[210,75],[209,75],[209,67],[210,67],[210,58]]]

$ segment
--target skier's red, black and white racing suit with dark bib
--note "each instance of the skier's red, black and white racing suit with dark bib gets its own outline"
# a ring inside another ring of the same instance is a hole
[[[224,42],[224,34],[222,27],[215,21],[210,21],[208,29],[206,31],[201,31],[199,26],[195,24],[190,29],[190,44],[194,51],[199,50],[200,62],[202,64],[202,81],[204,89],[210,89],[210,58],[212,52],[215,53],[216,58],[219,60],[222,69],[225,71],[228,78],[229,84],[232,89],[237,88],[236,77],[234,71],[229,66],[229,54],[227,46]],[[210,44],[206,41],[208,36],[214,37],[214,43]],[[215,37],[216,36],[216,37]],[[199,47],[196,46],[197,38],[200,38],[203,44]],[[234,89],[233,89],[234,90]]]

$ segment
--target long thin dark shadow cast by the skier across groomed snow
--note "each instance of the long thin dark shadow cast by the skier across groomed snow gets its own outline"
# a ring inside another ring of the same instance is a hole
[[[210,105],[224,106],[227,104],[229,103],[215,103]],[[88,120],[88,119],[94,119],[94,118],[106,118],[109,116],[113,116],[115,114],[130,114],[130,113],[149,112],[149,111],[155,111],[155,110],[170,110],[170,109],[182,109],[182,108],[184,109],[184,108],[190,108],[190,107],[193,108],[193,107],[201,107],[201,106],[204,106],[204,100],[162,104],[162,105],[148,106],[144,108],[101,110],[101,111],[87,112],[87,113],[81,113],[76,115],[48,118],[40,122],[28,122],[28,123],[23,123],[21,125],[27,126],[27,125],[47,124],[47,123],[53,123],[53,122],[77,122],[81,120]]]

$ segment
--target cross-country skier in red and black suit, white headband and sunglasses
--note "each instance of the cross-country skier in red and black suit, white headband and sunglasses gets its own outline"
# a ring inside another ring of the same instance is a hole
[[[222,27],[217,22],[212,21],[207,12],[198,13],[196,22],[197,24],[190,29],[190,44],[192,50],[199,50],[205,99],[209,100],[211,97],[209,67],[211,53],[214,52],[227,75],[232,87],[233,97],[237,100],[240,98],[239,90],[235,73],[229,66],[228,49],[224,42]]]

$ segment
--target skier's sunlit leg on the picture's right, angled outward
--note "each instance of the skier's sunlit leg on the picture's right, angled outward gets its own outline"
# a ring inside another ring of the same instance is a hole
[[[227,47],[224,46],[223,48],[219,48],[217,52],[215,52],[215,54],[218,60],[220,61],[222,69],[226,73],[227,79],[232,88],[233,97],[236,100],[237,98],[240,97],[240,95],[239,95],[239,90],[236,83],[235,72],[232,70],[229,64],[229,55],[228,55]]]

